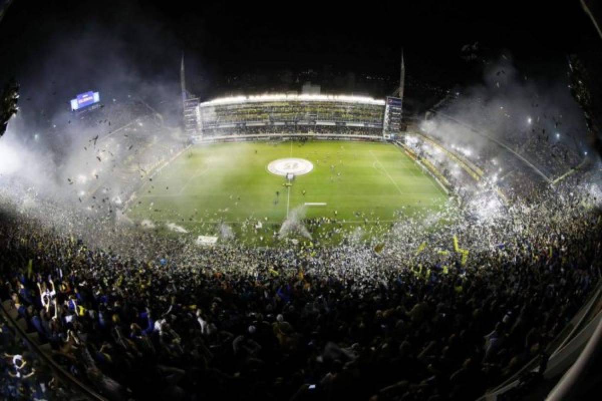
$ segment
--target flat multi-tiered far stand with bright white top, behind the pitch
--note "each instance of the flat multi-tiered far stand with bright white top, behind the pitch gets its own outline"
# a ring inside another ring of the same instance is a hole
[[[318,94],[226,97],[199,103],[191,122],[201,138],[281,133],[382,138],[400,130],[401,110],[392,112],[399,104],[396,99]]]

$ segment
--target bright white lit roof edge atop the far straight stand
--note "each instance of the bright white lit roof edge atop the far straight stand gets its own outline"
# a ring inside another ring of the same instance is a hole
[[[261,102],[282,102],[283,100],[297,102],[343,102],[358,103],[364,105],[384,106],[385,100],[373,99],[365,96],[335,96],[321,94],[269,94],[259,96],[232,96],[222,97],[221,99],[209,100],[209,102],[200,103],[199,106],[222,106],[237,105],[242,103],[261,103]]]

